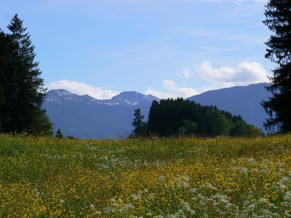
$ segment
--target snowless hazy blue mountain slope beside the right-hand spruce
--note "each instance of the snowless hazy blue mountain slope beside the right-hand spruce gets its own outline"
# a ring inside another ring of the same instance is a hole
[[[267,118],[264,108],[260,105],[262,100],[271,96],[264,86],[268,83],[257,83],[247,86],[234,86],[219,90],[211,90],[188,99],[201,105],[216,105],[220,110],[227,110],[233,115],[242,115],[247,123],[262,128]]]

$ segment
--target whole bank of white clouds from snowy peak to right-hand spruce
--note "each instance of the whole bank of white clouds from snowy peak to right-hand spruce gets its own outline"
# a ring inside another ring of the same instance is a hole
[[[216,90],[237,85],[269,82],[269,79],[267,78],[268,73],[264,69],[263,65],[257,62],[244,61],[238,63],[237,66],[237,69],[233,67],[221,67],[219,69],[215,69],[211,66],[210,62],[202,62],[200,66],[194,66],[194,68],[200,74],[200,77],[204,81],[207,81],[209,85],[198,86],[195,89],[178,87],[174,81],[165,79],[163,80],[163,85],[166,92],[155,90],[152,87],[147,87],[145,94],[152,94],[158,98],[187,98],[209,90]],[[182,73],[183,74],[178,74],[178,76],[189,75],[189,69],[185,69]],[[186,78],[186,76],[184,77]]]

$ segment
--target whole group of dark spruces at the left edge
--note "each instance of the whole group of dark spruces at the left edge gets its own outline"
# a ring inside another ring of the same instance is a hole
[[[52,134],[53,126],[41,105],[45,100],[42,73],[29,33],[16,14],[0,29],[0,132]]]

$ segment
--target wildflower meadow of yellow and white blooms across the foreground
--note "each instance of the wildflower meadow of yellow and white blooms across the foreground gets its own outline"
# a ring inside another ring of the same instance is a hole
[[[291,217],[291,135],[0,135],[0,217]]]

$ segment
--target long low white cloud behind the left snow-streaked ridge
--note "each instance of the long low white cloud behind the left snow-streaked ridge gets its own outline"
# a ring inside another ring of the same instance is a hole
[[[111,99],[120,93],[115,90],[100,89],[86,83],[79,83],[68,79],[51,82],[49,83],[48,89],[65,89],[78,95],[88,94],[95,99]]]

